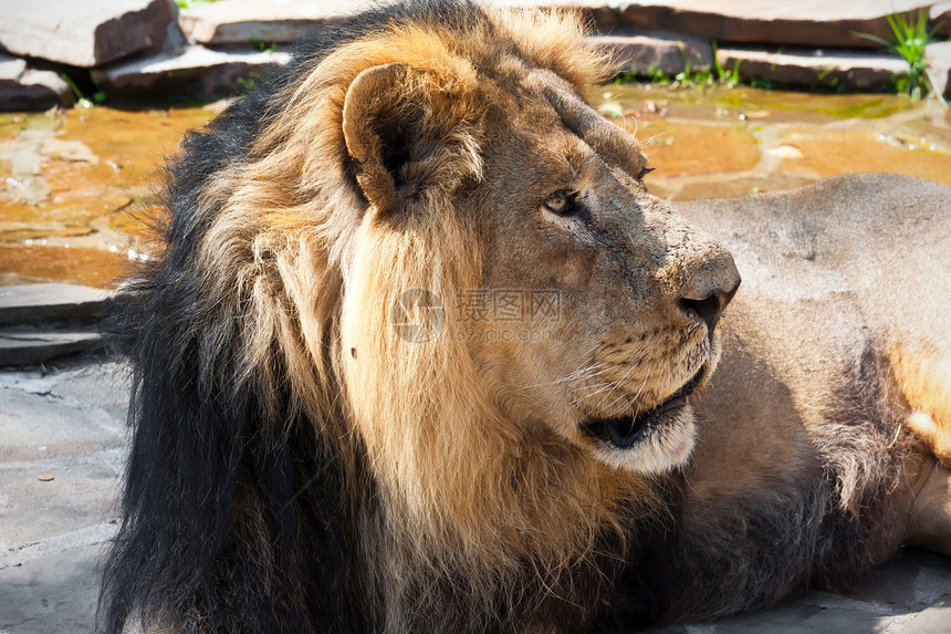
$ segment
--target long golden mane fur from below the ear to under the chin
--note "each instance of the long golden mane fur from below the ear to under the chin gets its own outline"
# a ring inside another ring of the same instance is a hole
[[[526,572],[552,588],[571,583],[607,533],[623,541],[625,500],[639,487],[493,398],[452,310],[461,290],[479,288],[481,254],[451,202],[435,202],[425,222],[400,232],[376,231],[367,216],[345,280],[337,372],[385,498],[373,526],[385,539],[367,543],[391,549],[375,553],[380,573],[414,571],[417,601],[428,579],[464,579],[477,602],[498,600]],[[405,341],[389,321],[410,289],[446,308],[428,341]],[[396,599],[387,604],[398,610]]]

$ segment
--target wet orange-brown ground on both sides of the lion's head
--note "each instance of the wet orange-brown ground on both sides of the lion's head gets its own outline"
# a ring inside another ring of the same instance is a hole
[[[797,187],[847,172],[951,184],[951,114],[895,95],[607,85],[599,110],[635,132],[678,200]],[[0,284],[107,288],[149,254],[149,194],[182,133],[221,103],[0,114]]]

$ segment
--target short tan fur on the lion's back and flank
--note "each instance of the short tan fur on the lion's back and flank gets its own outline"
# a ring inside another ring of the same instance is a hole
[[[947,470],[933,468],[934,457],[947,464],[951,438],[945,200],[934,184],[857,175],[681,207],[724,240],[745,278],[704,394],[698,498],[795,481],[825,454],[840,464],[843,503],[867,517],[861,490],[880,467],[843,461],[847,453],[824,445],[871,423],[881,428],[874,453],[903,470],[886,539],[949,551]],[[912,507],[921,521],[908,523]]]

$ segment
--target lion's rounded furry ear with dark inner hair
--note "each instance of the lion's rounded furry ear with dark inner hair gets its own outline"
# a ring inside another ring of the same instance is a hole
[[[474,139],[460,129],[469,113],[458,89],[404,63],[372,66],[351,83],[344,143],[357,184],[377,214],[401,207],[426,188],[450,188],[479,163]]]

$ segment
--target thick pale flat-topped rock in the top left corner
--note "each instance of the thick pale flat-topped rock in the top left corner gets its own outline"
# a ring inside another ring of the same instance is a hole
[[[92,67],[154,49],[171,19],[168,0],[3,2],[0,46],[13,54]]]

